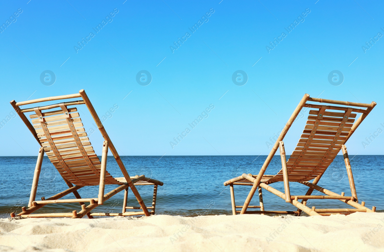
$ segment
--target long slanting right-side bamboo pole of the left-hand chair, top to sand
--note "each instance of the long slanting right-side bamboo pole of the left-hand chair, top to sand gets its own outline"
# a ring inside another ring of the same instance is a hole
[[[148,212],[148,210],[144,204],[144,201],[142,200],[139,192],[137,191],[136,187],[132,183],[132,180],[129,177],[127,169],[125,168],[124,164],[122,163],[122,160],[120,159],[118,152],[116,151],[111,139],[109,138],[107,131],[104,129],[104,126],[101,123],[100,118],[97,115],[95,109],[93,108],[93,105],[92,105],[91,101],[89,100],[87,94],[85,93],[84,89],[80,90],[79,94],[81,95],[81,98],[83,98],[83,101],[84,101],[85,105],[87,106],[89,112],[91,113],[96,125],[98,126],[98,129],[99,129],[101,135],[104,137],[104,140],[108,140],[109,149],[111,150],[114,158],[116,159],[116,162],[118,163],[120,170],[121,170],[122,174],[124,175],[124,178],[126,179],[129,187],[131,187],[132,193],[136,196],[136,199],[139,202],[139,205],[143,208],[145,215],[149,216],[149,212]]]

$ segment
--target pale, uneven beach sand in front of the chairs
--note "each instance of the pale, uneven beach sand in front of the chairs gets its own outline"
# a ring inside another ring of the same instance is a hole
[[[384,251],[384,213],[0,219],[1,251]]]

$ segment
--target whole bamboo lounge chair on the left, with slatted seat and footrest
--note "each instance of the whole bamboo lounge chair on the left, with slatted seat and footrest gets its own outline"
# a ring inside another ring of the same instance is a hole
[[[20,108],[22,105],[32,103],[40,103],[53,100],[68,100],[73,98],[82,98],[83,100],[66,101],[53,105],[38,106],[34,108]],[[77,108],[68,108],[69,106],[82,104],[85,104],[88,108],[105,140],[103,143],[101,162],[98,156],[95,154],[91,143],[89,142],[87,134],[83,128],[83,123],[81,123],[79,113],[76,112]],[[79,93],[72,95],[61,95],[21,102],[16,102],[13,100],[11,101],[11,105],[41,146],[39,149],[35,173],[33,176],[28,208],[26,209],[25,207],[22,207],[22,212],[17,214],[17,216],[35,218],[71,217],[74,219],[82,218],[85,215],[88,215],[88,218],[93,218],[92,216],[149,216],[150,213],[148,209],[151,209],[151,214],[155,213],[157,186],[162,186],[163,182],[154,180],[152,178],[146,178],[144,175],[129,177],[118,152],[116,151],[111,139],[109,138],[106,130],[103,127],[103,124],[99,119],[99,116],[94,110],[93,105],[84,90],[80,90]],[[52,111],[52,109],[55,108],[60,108],[60,110]],[[30,122],[24,114],[28,112],[34,112],[33,115],[30,115],[32,122]],[[118,163],[124,177],[114,178],[106,171],[108,148],[116,159],[116,162]],[[63,177],[69,188],[50,198],[45,199],[43,197],[41,200],[36,201],[35,196],[44,153],[47,154],[48,158],[58,170],[61,177]],[[104,195],[104,186],[106,184],[118,185],[118,187]],[[78,189],[85,186],[97,185],[99,186],[99,194],[97,198],[81,198],[78,193]],[[154,194],[151,207],[146,207],[139,192],[136,189],[136,185],[154,186]],[[131,188],[140,206],[127,206],[128,188]],[[122,190],[125,190],[122,213],[90,213],[92,209],[99,205],[103,205],[106,200]],[[76,199],[60,200],[60,198],[68,195],[69,193],[73,193]],[[86,202],[89,202],[88,206],[85,205]],[[79,212],[74,210],[72,213],[31,214],[43,206],[53,203],[79,203],[81,205],[81,210]],[[141,210],[136,212],[126,212],[126,209]],[[12,213],[11,217],[14,216],[15,214]]]

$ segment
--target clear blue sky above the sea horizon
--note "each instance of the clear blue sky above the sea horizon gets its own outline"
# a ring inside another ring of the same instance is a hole
[[[109,116],[120,155],[267,155],[305,93],[376,101],[347,147],[384,154],[383,2],[124,1],[2,3],[0,155],[38,152],[10,100],[80,89]],[[286,136],[288,154],[305,121]],[[101,135],[90,140],[101,155]]]

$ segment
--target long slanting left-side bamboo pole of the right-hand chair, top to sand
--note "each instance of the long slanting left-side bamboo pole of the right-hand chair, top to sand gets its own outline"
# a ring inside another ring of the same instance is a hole
[[[264,161],[264,164],[263,164],[262,168],[260,169],[260,172],[259,172],[259,174],[258,174],[258,176],[257,176],[257,178],[256,178],[256,180],[255,180],[255,182],[254,182],[250,192],[248,193],[247,199],[244,202],[244,206],[243,206],[240,214],[244,214],[245,211],[247,211],[247,207],[248,207],[249,203],[251,202],[252,197],[255,194],[255,191],[256,191],[260,181],[262,180],[262,177],[263,177],[263,175],[265,173],[265,170],[268,167],[269,163],[271,162],[271,160],[273,158],[273,155],[275,155],[275,153],[277,151],[279,142],[283,140],[283,138],[285,137],[286,133],[288,132],[288,129],[291,128],[292,123],[295,121],[297,115],[300,113],[301,109],[303,108],[304,104],[306,103],[306,101],[309,98],[310,98],[310,95],[308,95],[307,93],[303,96],[303,98],[301,98],[300,103],[297,105],[297,107],[293,111],[291,117],[288,119],[288,122],[285,124],[283,130],[280,133],[280,136],[277,138],[275,144],[273,145],[273,147],[271,149],[271,152],[269,153],[268,157]]]

